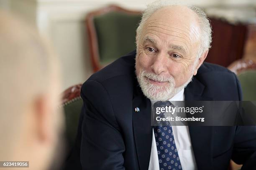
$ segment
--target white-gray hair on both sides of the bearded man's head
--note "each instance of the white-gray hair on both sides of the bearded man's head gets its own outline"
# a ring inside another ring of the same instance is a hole
[[[174,4],[172,1],[159,0],[147,5],[146,9],[142,13],[142,18],[137,28],[137,35],[136,35],[137,49],[138,49],[138,41],[141,38],[142,29],[146,21],[148,20],[148,18],[150,18],[150,16],[154,12],[156,12],[156,10],[159,10],[162,7],[167,7],[172,5],[177,5],[177,4]],[[200,25],[200,30],[201,30],[201,36],[200,36],[201,43],[200,43],[199,50],[197,52],[197,58],[199,58],[202,55],[202,53],[205,52],[205,50],[208,50],[211,47],[212,28],[210,25],[210,20],[207,18],[202,8],[191,6],[191,5],[185,5],[185,6],[187,6],[190,10],[194,11],[198,17],[198,23]]]

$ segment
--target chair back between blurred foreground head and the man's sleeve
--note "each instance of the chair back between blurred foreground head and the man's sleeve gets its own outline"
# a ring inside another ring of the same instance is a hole
[[[75,143],[79,115],[82,109],[83,101],[80,96],[82,84],[69,87],[62,93],[62,105],[65,115],[65,139],[67,153],[70,152]]]

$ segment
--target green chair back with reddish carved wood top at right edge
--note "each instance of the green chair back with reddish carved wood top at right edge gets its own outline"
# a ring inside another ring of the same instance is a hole
[[[238,60],[228,67],[237,74],[243,91],[243,100],[256,100],[256,63],[252,60]]]

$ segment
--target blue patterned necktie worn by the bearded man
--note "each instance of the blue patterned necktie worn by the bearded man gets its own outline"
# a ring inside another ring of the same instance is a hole
[[[155,102],[154,107],[170,106],[171,102]],[[164,117],[164,113],[159,114]],[[179,161],[178,151],[174,142],[172,126],[166,125],[154,126],[154,133],[156,138],[156,148],[159,159],[160,170],[182,170]]]

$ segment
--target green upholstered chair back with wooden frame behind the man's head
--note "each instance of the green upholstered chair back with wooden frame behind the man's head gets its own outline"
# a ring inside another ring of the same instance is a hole
[[[95,72],[136,49],[136,29],[140,19],[140,11],[115,5],[88,13],[86,28]]]

